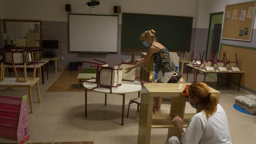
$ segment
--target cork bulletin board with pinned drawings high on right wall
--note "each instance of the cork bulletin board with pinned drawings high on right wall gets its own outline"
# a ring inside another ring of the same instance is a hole
[[[251,41],[255,19],[255,1],[226,5],[223,39]]]

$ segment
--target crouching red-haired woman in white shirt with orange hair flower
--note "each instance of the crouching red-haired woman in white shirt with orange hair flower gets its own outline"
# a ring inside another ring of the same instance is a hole
[[[218,104],[216,95],[212,94],[209,87],[202,82],[192,83],[187,88],[187,92],[189,104],[199,113],[191,118],[185,132],[182,128],[182,119],[179,116],[173,118],[173,125],[177,128],[181,139],[172,136],[168,140],[169,144],[232,144],[227,116]]]

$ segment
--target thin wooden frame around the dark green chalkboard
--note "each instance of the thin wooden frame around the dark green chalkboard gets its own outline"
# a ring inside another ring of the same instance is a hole
[[[138,13],[122,13],[122,31],[121,31],[121,50],[147,50],[148,47],[145,47],[144,49],[133,49],[133,48],[124,48],[123,47],[123,35],[124,35],[124,19],[125,19],[125,15],[124,14],[134,14],[137,15]],[[191,19],[191,23],[190,23],[190,27],[191,27],[191,31],[190,31],[190,37],[189,37],[189,47],[186,50],[179,50],[179,49],[169,49],[168,51],[173,51],[173,52],[177,52],[177,51],[190,51],[191,49],[191,39],[192,39],[192,29],[193,29],[193,17],[183,17],[183,16],[173,16],[173,15],[152,15],[152,14],[138,14],[138,15],[151,15],[151,16],[167,16],[167,17],[180,17],[180,18],[190,18]],[[138,38],[140,37],[140,35],[138,35]]]

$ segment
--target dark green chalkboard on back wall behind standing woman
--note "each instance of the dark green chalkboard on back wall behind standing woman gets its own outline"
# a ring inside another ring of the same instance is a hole
[[[169,51],[190,51],[193,17],[122,13],[122,50],[145,50],[140,36],[154,29]]]

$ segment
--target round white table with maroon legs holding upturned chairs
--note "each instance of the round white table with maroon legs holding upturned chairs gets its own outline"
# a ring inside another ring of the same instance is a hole
[[[91,79],[88,81],[95,81],[95,79]],[[117,94],[123,96],[123,103],[122,103],[122,125],[124,125],[124,112],[125,112],[125,94],[127,93],[136,93],[138,92],[138,97],[140,97],[140,91],[141,91],[141,82],[139,81],[122,81],[122,86],[119,86],[117,88],[112,88],[111,94]],[[83,83],[83,87],[85,88],[85,117],[87,117],[87,90],[96,87],[96,83]],[[104,93],[105,94],[105,106],[107,104],[107,94],[110,94],[109,88],[96,88],[94,90],[98,93]],[[153,103],[152,103],[153,104]],[[153,108],[152,108],[153,109]],[[151,110],[152,110],[151,109]]]

